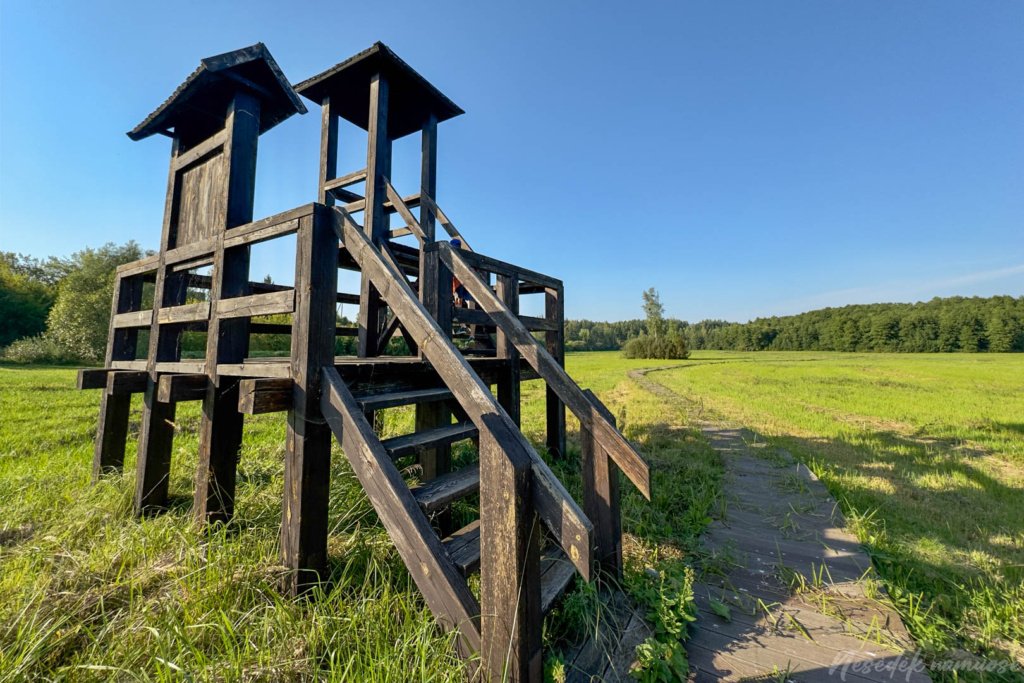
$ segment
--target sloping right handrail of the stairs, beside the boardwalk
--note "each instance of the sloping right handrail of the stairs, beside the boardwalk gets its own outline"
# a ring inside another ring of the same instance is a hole
[[[541,379],[547,382],[548,386],[558,394],[558,398],[572,411],[583,427],[594,434],[597,442],[608,452],[644,498],[650,500],[650,468],[622,432],[608,422],[601,411],[572,381],[565,369],[558,365],[554,356],[534,338],[519,317],[509,310],[508,306],[480,280],[459,250],[453,249],[451,245],[441,244],[439,254],[444,264],[462,282],[477,304],[490,314],[495,324],[508,335]]]

